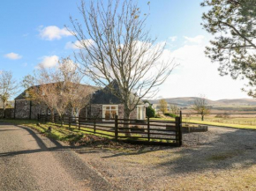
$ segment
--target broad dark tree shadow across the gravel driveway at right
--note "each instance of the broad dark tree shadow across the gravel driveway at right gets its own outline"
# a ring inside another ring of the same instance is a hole
[[[216,136],[211,142],[192,148],[181,148],[172,152],[173,155],[179,156],[178,158],[164,161],[154,167],[163,167],[165,173],[162,175],[170,175],[256,165],[256,131],[223,128],[214,130]]]

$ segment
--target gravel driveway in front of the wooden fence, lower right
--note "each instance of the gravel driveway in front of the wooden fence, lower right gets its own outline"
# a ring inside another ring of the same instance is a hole
[[[256,190],[256,131],[209,127],[184,146],[76,149],[119,190]]]

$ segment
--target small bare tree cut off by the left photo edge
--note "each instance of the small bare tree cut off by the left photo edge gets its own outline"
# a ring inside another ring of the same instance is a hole
[[[4,118],[5,108],[7,106],[8,99],[11,99],[13,95],[18,92],[18,84],[12,76],[11,71],[1,71],[0,73],[0,99],[3,102]]]

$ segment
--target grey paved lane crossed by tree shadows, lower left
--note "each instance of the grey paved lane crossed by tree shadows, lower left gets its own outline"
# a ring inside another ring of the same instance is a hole
[[[110,190],[110,186],[68,146],[2,123],[0,190]]]

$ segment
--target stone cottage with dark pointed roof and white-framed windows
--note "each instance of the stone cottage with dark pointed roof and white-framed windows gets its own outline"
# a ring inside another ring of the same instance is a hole
[[[96,117],[107,120],[114,119],[117,114],[119,118],[124,118],[124,105],[121,101],[109,92],[108,86],[99,88],[90,86],[94,89],[90,95],[91,99],[87,107],[81,109],[80,117]],[[68,113],[68,111],[67,111]],[[22,92],[14,99],[14,118],[15,119],[37,119],[38,114],[50,115],[49,108],[44,104],[38,104],[29,100],[27,91]],[[135,110],[132,111],[131,119],[144,120],[146,118],[146,107],[142,101]]]

